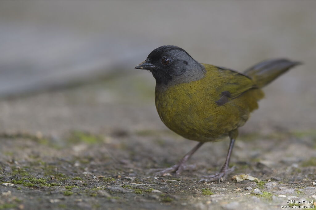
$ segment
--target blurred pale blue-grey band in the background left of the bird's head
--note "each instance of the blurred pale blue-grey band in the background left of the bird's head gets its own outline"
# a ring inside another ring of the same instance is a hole
[[[16,22],[0,22],[0,30],[0,97],[133,69],[148,54],[141,39],[80,36],[65,28]]]

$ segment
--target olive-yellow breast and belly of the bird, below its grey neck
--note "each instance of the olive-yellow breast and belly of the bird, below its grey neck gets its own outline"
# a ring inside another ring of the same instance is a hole
[[[260,89],[252,89],[218,106],[215,101],[220,93],[216,91],[216,85],[210,83],[208,73],[198,81],[167,88],[156,86],[155,104],[162,122],[186,139],[218,140],[242,126],[250,112],[258,108],[257,100],[263,97]]]

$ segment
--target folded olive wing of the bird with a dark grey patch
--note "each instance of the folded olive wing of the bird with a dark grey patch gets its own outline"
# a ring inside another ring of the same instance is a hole
[[[216,104],[219,106],[228,103],[231,99],[238,98],[252,88],[258,88],[250,77],[242,73],[223,67],[217,67],[217,69],[222,81],[216,91],[220,93],[216,100]]]

